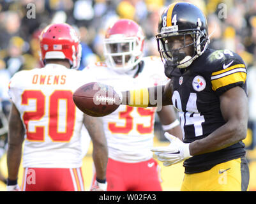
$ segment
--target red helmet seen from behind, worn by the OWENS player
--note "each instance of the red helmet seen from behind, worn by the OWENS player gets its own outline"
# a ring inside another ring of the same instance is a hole
[[[68,59],[72,68],[79,68],[82,48],[80,37],[68,24],[51,24],[40,35],[41,60]]]

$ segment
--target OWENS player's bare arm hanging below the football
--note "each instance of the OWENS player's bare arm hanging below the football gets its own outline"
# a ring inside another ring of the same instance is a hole
[[[93,162],[96,168],[96,179],[105,180],[108,149],[102,119],[84,115],[84,125],[86,126],[87,131],[91,136],[91,141],[93,142]]]

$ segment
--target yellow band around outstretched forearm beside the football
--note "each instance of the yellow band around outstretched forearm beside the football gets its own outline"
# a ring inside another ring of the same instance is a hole
[[[130,106],[146,108],[149,105],[149,91],[147,88],[130,91]]]

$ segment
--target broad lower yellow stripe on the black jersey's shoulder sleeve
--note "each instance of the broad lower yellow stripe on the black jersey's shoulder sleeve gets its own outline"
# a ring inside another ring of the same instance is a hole
[[[236,82],[245,83],[246,80],[246,72],[235,72],[225,77],[217,78],[215,80],[211,80],[212,89],[216,91],[220,87],[225,87],[229,84],[234,84]]]

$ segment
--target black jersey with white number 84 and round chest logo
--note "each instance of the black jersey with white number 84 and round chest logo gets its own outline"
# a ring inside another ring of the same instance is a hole
[[[225,124],[220,95],[240,86],[246,92],[245,62],[230,50],[207,49],[187,70],[172,70],[172,103],[179,110],[183,142],[200,140]],[[243,142],[184,161],[185,173],[198,173],[245,155]]]

